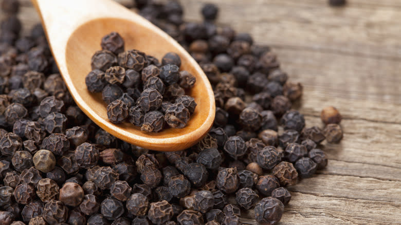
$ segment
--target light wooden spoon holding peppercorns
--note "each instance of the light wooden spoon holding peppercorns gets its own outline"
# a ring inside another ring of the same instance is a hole
[[[212,87],[202,69],[168,34],[136,13],[111,0],[32,0],[42,18],[54,59],[64,81],[82,111],[106,132],[134,145],[157,151],[179,151],[202,139],[213,124],[215,105]],[[197,103],[183,129],[168,128],[144,133],[130,123],[113,124],[107,119],[101,93],[86,89],[90,59],[100,50],[102,36],[116,31],[125,49],[138,49],[161,60],[167,52],[181,57],[181,70],[196,77],[187,93]]]

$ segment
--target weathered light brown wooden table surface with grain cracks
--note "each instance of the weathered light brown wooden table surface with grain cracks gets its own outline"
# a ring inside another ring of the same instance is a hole
[[[24,27],[38,23],[27,0]],[[130,3],[130,0],[119,0]],[[337,107],[344,138],[327,144],[329,165],[291,187],[280,224],[401,224],[401,1],[181,0],[186,20],[221,7],[219,24],[249,32],[278,53],[290,79],[304,85],[307,126]],[[246,212],[244,224],[257,224]]]

